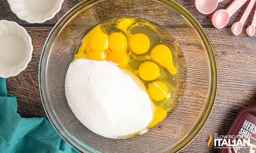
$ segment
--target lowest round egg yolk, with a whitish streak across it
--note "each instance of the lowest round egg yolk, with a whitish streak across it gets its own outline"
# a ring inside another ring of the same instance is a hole
[[[148,95],[153,100],[163,100],[166,98],[167,92],[167,86],[162,81],[155,81],[148,87]]]

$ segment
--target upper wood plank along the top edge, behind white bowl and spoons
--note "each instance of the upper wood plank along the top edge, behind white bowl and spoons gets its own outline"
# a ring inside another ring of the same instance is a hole
[[[206,28],[214,28],[212,23],[211,23],[211,17],[213,15],[213,13],[209,14],[209,15],[204,15],[201,14],[200,12],[198,12],[196,10],[195,7],[195,2],[194,0],[175,0],[177,3],[179,3],[180,5],[182,5],[185,9],[187,9],[198,21],[199,23]],[[5,19],[5,20],[10,20],[10,21],[15,21],[23,26],[52,26],[55,25],[56,22],[68,11],[70,10],[73,6],[75,6],[76,4],[78,4],[79,2],[82,2],[82,0],[72,0],[72,1],[67,1],[65,0],[63,2],[62,8],[60,10],[60,12],[58,12],[55,17],[51,20],[48,20],[42,24],[31,24],[28,23],[26,21],[22,21],[21,19],[19,19],[10,9],[10,6],[8,4],[8,2],[6,0],[0,0],[0,10],[4,10],[1,11],[0,13],[0,19]],[[220,2],[217,9],[226,9],[231,3],[233,2],[233,0],[225,0],[223,2]],[[241,18],[241,16],[243,15],[243,12],[245,10],[245,8],[247,7],[247,5],[249,4],[250,0],[248,0],[233,16],[231,16],[230,18],[230,22],[228,23],[228,25],[225,28],[231,28],[232,24],[234,22],[239,21],[239,19]],[[254,6],[254,8],[252,9],[247,21],[244,24],[244,27],[247,28],[247,26],[249,26],[252,22],[253,19],[253,15],[256,9],[256,5]]]

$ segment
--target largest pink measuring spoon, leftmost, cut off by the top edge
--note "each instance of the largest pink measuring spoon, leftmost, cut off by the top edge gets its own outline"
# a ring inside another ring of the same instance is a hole
[[[195,0],[196,9],[203,14],[212,13],[218,6],[219,2],[224,0]]]

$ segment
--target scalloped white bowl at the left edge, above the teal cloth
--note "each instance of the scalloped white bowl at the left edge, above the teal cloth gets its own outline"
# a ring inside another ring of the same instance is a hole
[[[0,77],[16,76],[25,70],[32,52],[26,29],[16,22],[0,20]]]

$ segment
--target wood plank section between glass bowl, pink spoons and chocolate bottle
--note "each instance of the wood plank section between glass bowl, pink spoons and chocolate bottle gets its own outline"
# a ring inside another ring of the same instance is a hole
[[[181,153],[217,152],[206,145],[207,135],[223,135],[237,112],[256,99],[256,43],[243,32],[230,37],[230,29],[205,29],[215,51],[219,85],[209,120],[198,136]],[[224,41],[225,40],[225,41]],[[223,53],[225,52],[225,53]]]

